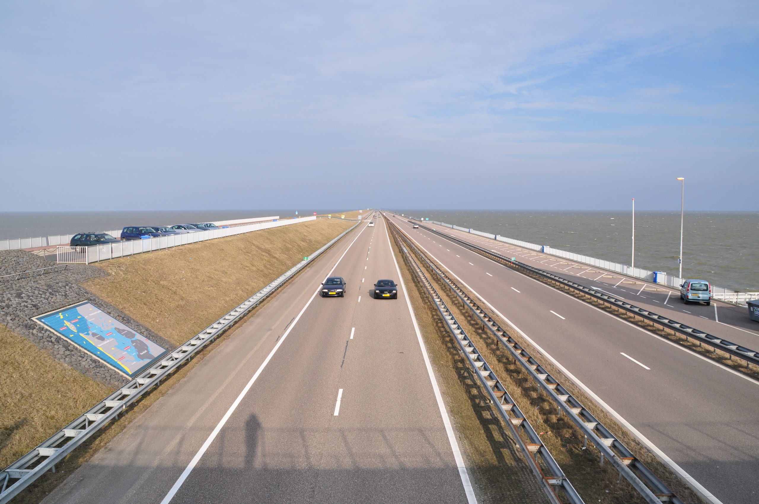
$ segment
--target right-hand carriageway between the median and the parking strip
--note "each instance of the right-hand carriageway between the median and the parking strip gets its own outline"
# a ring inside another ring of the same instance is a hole
[[[721,502],[759,500],[756,380],[439,235],[413,229],[404,218],[389,219],[707,493]]]

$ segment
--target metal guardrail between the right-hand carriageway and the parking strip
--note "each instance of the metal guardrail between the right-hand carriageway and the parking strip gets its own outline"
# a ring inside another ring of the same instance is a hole
[[[417,222],[412,223],[417,224]],[[502,260],[505,263],[505,266],[514,266],[518,269],[527,270],[528,272],[540,276],[543,279],[548,279],[552,282],[564,285],[565,287],[572,288],[572,290],[581,292],[582,294],[597,299],[598,301],[602,301],[603,303],[609,304],[610,306],[631,313],[632,315],[635,315],[635,317],[640,317],[641,319],[647,320],[648,322],[656,324],[657,326],[661,326],[680,335],[684,335],[686,339],[692,338],[695,341],[699,342],[699,344],[706,343],[710,347],[714,348],[715,351],[719,349],[720,351],[725,352],[730,356],[731,359],[733,357],[742,359],[746,362],[747,367],[749,363],[754,364],[755,366],[759,366],[759,356],[757,356],[759,352],[751,350],[751,348],[746,348],[742,345],[738,345],[737,343],[729,342],[728,340],[720,338],[719,336],[701,331],[701,329],[695,329],[691,326],[685,325],[684,323],[672,320],[669,317],[664,317],[663,315],[653,313],[651,310],[637,307],[635,304],[630,304],[623,299],[618,299],[612,295],[604,294],[603,292],[596,291],[593,288],[578,284],[577,282],[572,282],[571,280],[567,280],[562,276],[555,275],[552,272],[543,271],[543,269],[539,269],[534,266],[512,260],[509,257],[502,256],[501,254],[493,252],[492,250],[487,250],[484,247],[471,244],[468,241],[461,240],[460,238],[455,238],[455,236],[446,235],[446,233],[436,231],[434,228],[430,228],[427,225],[422,225],[422,227],[427,229],[429,232],[433,232],[436,235],[439,235],[442,238],[454,241],[455,243],[461,244],[464,247],[468,247],[471,250],[476,250],[482,255],[496,257],[497,259]]]

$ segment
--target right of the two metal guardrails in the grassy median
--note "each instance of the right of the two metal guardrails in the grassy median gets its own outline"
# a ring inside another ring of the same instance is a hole
[[[586,443],[587,439],[591,439],[591,443],[601,453],[601,463],[603,463],[604,458],[611,461],[612,465],[619,471],[620,479],[624,476],[650,504],[658,504],[659,502],[682,504],[682,501],[672,493],[672,490],[669,490],[669,487],[662,480],[653,474],[642,461],[635,457],[627,446],[601,424],[594,414],[588,411],[577,398],[568,392],[540,362],[532,358],[528,351],[524,350],[515,339],[493,320],[493,317],[490,317],[485,310],[480,308],[463,289],[446,275],[446,272],[430,260],[427,254],[419,250],[405,236],[403,240],[455,292],[458,298],[474,313],[474,316],[483,323],[483,327],[487,327],[490,333],[496,336],[496,339],[499,340],[503,347],[512,354],[514,360],[521,364],[521,367],[528,372],[534,382],[553,399],[553,402],[559,406],[560,410],[582,431]]]

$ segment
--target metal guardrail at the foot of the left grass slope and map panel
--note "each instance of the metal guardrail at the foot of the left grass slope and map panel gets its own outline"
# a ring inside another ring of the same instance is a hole
[[[166,352],[158,358],[154,364],[136,378],[130,380],[116,392],[103,399],[90,408],[76,420],[72,421],[63,429],[50,436],[35,449],[23,457],[14,461],[3,471],[0,471],[0,504],[5,504],[21,490],[24,490],[34,480],[46,471],[55,472],[55,464],[66,455],[80,446],[97,430],[108,424],[109,421],[118,418],[118,415],[126,410],[128,405],[134,403],[137,398],[145,394],[154,386],[158,386],[172,371],[181,364],[190,361],[203,347],[216,340],[223,332],[229,329],[238,320],[244,317],[250,310],[268,298],[274,291],[282,287],[288,279],[301,271],[314,258],[319,257],[325,250],[332,247],[340,238],[351,232],[358,224],[351,226],[336,238],[314,252],[308,260],[303,260],[288,269],[274,282],[266,285],[263,289],[239,304],[224,317],[216,320],[213,324],[194,335],[183,345],[174,351]]]

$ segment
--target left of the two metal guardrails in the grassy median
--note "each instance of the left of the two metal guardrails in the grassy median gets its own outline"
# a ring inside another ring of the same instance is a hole
[[[483,388],[486,389],[488,395],[490,395],[493,405],[496,405],[499,414],[503,418],[505,424],[509,427],[514,440],[518,443],[521,452],[524,454],[524,458],[528,461],[528,465],[530,465],[535,476],[540,480],[540,484],[551,502],[554,504],[560,504],[562,502],[559,498],[559,494],[556,492],[556,489],[560,488],[563,490],[568,502],[571,502],[572,504],[584,504],[580,494],[577,493],[577,490],[572,486],[572,483],[553,458],[553,455],[551,455],[548,448],[543,444],[543,441],[530,424],[530,421],[528,421],[527,417],[524,416],[516,405],[512,396],[509,395],[505,386],[503,386],[496,376],[496,373],[493,372],[480,352],[477,351],[477,347],[474,346],[474,343],[471,342],[471,339],[469,339],[464,329],[458,324],[430,280],[427,279],[424,271],[417,264],[416,260],[414,260],[414,257],[408,252],[408,249],[402,243],[399,243],[399,245],[405,254],[409,265],[414,269],[414,272],[424,285],[424,288],[427,289],[427,293],[430,295],[430,298],[432,298],[442,319],[446,321],[446,326],[448,326],[449,331],[454,335],[456,342],[458,342],[458,346],[469,361],[469,365],[477,374]],[[524,437],[527,438],[527,441],[525,441],[520,435],[520,431],[524,434]],[[538,458],[540,458],[540,460]],[[540,465],[541,461],[543,462],[546,471],[550,474],[543,472]]]

